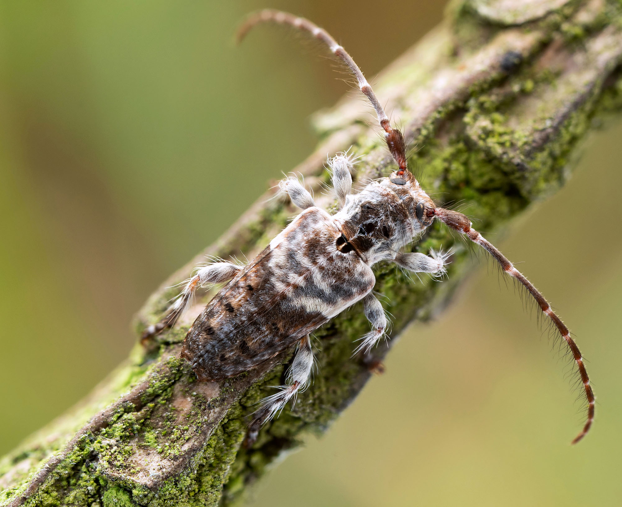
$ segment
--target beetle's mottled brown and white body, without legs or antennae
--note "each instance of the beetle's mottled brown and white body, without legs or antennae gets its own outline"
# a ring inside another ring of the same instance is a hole
[[[307,208],[210,301],[183,344],[200,380],[220,380],[274,357],[373,289],[371,265],[419,234],[419,187],[373,181],[334,216]],[[434,262],[436,269],[442,263]]]

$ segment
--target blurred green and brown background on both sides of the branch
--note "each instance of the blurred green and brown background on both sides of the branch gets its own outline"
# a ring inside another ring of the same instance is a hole
[[[265,6],[326,27],[368,76],[444,8],[0,2],[0,453],[126,357],[132,313],[311,152],[309,114],[348,90],[279,30],[234,48],[236,23]],[[622,505],[620,139],[621,122],[593,134],[569,185],[497,239],[590,359],[585,441],[569,445],[584,409],[566,363],[481,260],[252,504]]]

